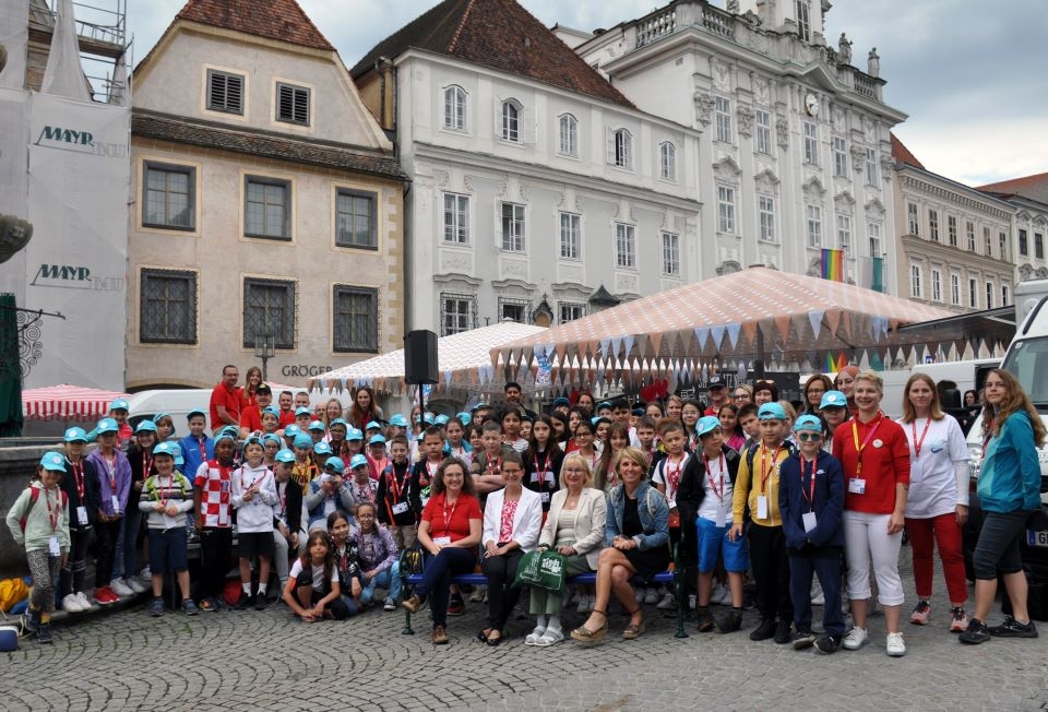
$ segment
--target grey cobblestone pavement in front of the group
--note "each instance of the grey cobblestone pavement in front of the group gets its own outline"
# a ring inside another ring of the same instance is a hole
[[[908,570],[908,548],[903,570]],[[942,579],[936,585],[943,588]],[[906,577],[907,595],[913,583]],[[144,607],[59,628],[52,645],[22,642],[0,674],[0,707],[13,710],[1048,710],[1048,625],[1037,640],[961,645],[948,632],[946,602],[932,624],[904,624],[908,653],[884,654],[884,619],[871,643],[832,656],[750,642],[743,630],[676,639],[675,621],[646,606],[648,630],[584,649],[570,641],[526,648],[529,621],[488,648],[474,639],[483,606],[450,619],[452,642],[434,646],[424,610],[415,636],[402,613],[373,610],[346,622],[305,625],[284,606],[267,610],[168,613]],[[906,609],[913,605],[913,598]],[[815,615],[820,615],[815,608]],[[716,607],[714,607],[716,612]],[[569,624],[580,622],[569,616]],[[995,610],[991,622],[999,620]]]

